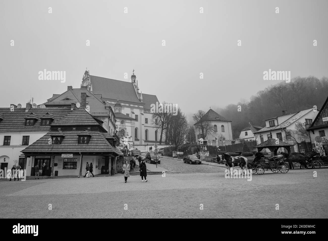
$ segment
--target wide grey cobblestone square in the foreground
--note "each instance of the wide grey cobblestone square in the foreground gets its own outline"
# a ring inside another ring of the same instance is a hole
[[[185,166],[206,171],[150,175],[148,182],[139,176],[129,177],[127,183],[121,176],[3,181],[1,217],[12,217],[17,208],[16,218],[328,217],[328,169],[316,170],[318,177],[313,170],[266,171],[247,181],[226,179],[224,168]]]

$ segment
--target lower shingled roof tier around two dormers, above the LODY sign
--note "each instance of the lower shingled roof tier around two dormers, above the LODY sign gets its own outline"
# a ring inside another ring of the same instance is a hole
[[[48,139],[58,131],[50,131],[33,144],[22,150],[23,153],[32,152],[54,152],[54,153],[72,153],[72,152],[114,152],[117,155],[122,155],[122,152],[117,148],[111,146],[111,144],[106,140],[105,136],[98,131],[88,131],[91,135],[88,144],[78,143],[78,134],[81,131],[62,131],[65,135],[61,144],[48,144]]]

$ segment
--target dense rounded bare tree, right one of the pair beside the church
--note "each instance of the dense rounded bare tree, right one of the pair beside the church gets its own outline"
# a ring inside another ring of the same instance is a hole
[[[188,129],[189,124],[187,118],[180,108],[178,108],[177,115],[171,115],[167,120],[166,140],[168,144],[177,150],[178,146],[185,142]]]

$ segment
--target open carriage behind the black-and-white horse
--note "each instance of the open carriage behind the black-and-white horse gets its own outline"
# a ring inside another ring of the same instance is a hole
[[[252,174],[264,174],[265,170],[271,170],[274,173],[281,172],[287,173],[289,171],[288,163],[285,162],[285,158],[283,155],[277,155],[265,159],[262,157],[259,160],[253,161],[249,163],[247,168],[252,172]]]

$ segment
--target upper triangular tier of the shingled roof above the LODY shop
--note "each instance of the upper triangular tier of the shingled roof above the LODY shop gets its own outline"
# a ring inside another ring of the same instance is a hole
[[[54,121],[50,126],[97,126],[99,123],[92,117],[88,111],[82,107],[72,110],[71,113],[65,115],[60,120]]]

